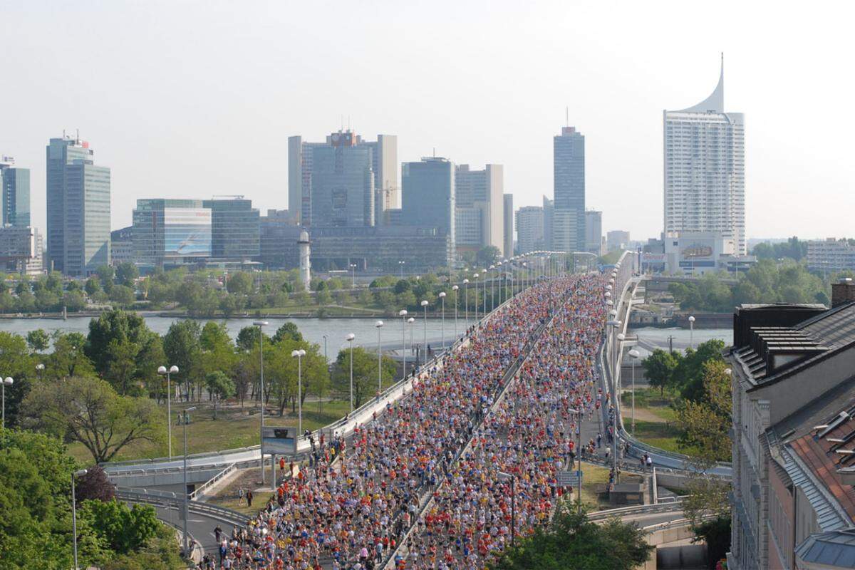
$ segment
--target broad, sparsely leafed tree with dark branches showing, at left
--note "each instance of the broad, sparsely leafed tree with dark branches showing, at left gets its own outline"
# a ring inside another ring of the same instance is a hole
[[[96,463],[110,461],[133,442],[164,439],[154,402],[120,396],[101,379],[75,377],[35,385],[23,407],[33,426],[80,442]]]

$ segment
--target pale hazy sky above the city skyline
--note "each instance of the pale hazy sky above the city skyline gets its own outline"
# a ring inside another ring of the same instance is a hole
[[[662,111],[746,114],[748,237],[853,236],[851,3],[0,0],[0,154],[32,168],[62,129],[140,197],[287,206],[286,138],[350,117],[398,159],[504,164],[515,207],[552,194],[552,136],[586,136],[604,230],[662,229]]]

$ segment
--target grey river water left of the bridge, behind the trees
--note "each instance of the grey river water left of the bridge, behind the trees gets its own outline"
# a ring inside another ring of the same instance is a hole
[[[144,317],[145,324],[149,328],[158,333],[166,334],[169,326],[176,320],[181,320],[180,317],[160,317],[146,316]],[[89,332],[89,317],[68,317],[68,320],[61,319],[0,319],[0,331],[15,332],[21,336],[26,336],[27,332],[35,329],[44,329],[45,332]],[[225,322],[229,335],[232,338],[237,338],[238,332],[245,326],[252,326],[252,322],[256,319],[208,319],[216,322]],[[199,326],[204,326],[208,320],[199,320]],[[345,337],[349,333],[356,335],[354,344],[356,346],[377,347],[377,329],[374,327],[374,319],[282,319],[268,318],[265,319],[270,323],[265,327],[265,332],[268,335],[273,335],[276,329],[286,322],[293,322],[297,325],[299,331],[303,334],[303,338],[310,343],[320,345],[321,350],[324,348],[323,335],[327,335],[327,358],[334,361],[339,349],[346,348],[347,341]],[[384,350],[399,350],[401,348],[401,319],[395,318],[384,320],[384,326],[380,328],[380,343]],[[422,317],[416,317],[416,322],[413,323],[413,342],[421,344],[424,340],[425,325]],[[457,332],[462,334],[466,328],[466,320],[463,316],[457,319]],[[443,325],[441,319],[428,318],[428,344],[439,345],[442,338]],[[454,335],[454,318],[445,318],[445,344],[451,344],[451,339]],[[410,325],[406,327],[406,344],[410,344]],[[432,348],[434,348],[432,346]]]

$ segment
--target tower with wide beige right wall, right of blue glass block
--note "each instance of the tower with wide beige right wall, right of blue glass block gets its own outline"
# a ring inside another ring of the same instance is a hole
[[[468,164],[455,168],[454,200],[465,226],[455,227],[457,248],[476,249],[492,245],[504,248],[504,170],[501,164],[487,164],[483,170],[471,170]],[[462,211],[463,210],[463,211]]]

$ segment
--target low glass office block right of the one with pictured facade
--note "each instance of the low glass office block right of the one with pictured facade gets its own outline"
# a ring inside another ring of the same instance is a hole
[[[261,255],[261,220],[252,201],[243,196],[203,200],[211,210],[211,257],[249,261]]]

